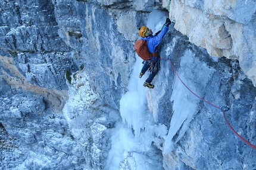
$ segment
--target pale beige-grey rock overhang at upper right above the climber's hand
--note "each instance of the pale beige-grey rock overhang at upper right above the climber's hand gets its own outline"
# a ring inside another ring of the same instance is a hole
[[[171,1],[170,18],[210,55],[238,59],[256,86],[255,1]]]

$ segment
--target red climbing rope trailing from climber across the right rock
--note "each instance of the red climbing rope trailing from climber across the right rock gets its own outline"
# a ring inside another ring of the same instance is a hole
[[[171,60],[170,59],[167,59],[167,58],[161,58],[161,60],[169,60],[170,63],[171,63]],[[173,68],[175,74],[177,75],[177,77],[180,79],[180,81],[182,82],[183,85],[186,86],[186,88],[192,92],[192,94],[194,94],[196,97],[198,97],[200,100],[204,101],[204,102],[207,102],[208,104],[210,105],[213,105],[213,107],[216,107],[218,108],[218,110],[222,111],[223,112],[223,116],[224,116],[224,119],[226,120],[226,123],[227,125],[230,127],[230,129],[236,134],[236,136],[238,136],[240,139],[243,140],[243,142],[247,143],[249,146],[251,146],[252,148],[256,149],[256,146],[252,145],[251,143],[249,143],[247,140],[245,140],[241,135],[239,135],[234,129],[233,127],[229,124],[229,121],[227,121],[227,117],[226,117],[226,111],[229,110],[228,107],[218,107],[217,105],[214,105],[212,104],[211,102],[208,102],[207,100],[204,100],[204,98],[201,98],[199,97],[199,95],[195,94],[195,92],[193,92],[183,81],[182,79],[180,78],[180,76],[178,75],[176,69],[174,68],[173,66],[173,63],[171,63],[171,67]]]

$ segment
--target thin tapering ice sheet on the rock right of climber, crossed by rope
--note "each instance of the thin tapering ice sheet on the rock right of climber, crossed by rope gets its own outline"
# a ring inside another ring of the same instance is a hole
[[[180,79],[199,97],[203,97],[204,85],[207,84],[208,80],[214,72],[214,69],[209,68],[207,65],[199,64],[199,56],[194,56],[195,54],[189,49],[182,56],[180,62],[180,69],[182,73],[179,74]],[[202,56],[200,56],[202,57]],[[197,63],[197,64],[196,64]],[[194,68],[193,66],[197,66]],[[191,71],[193,70],[193,72]],[[202,70],[204,72],[202,73]],[[173,116],[171,117],[170,129],[168,130],[168,135],[164,143],[164,154],[171,152],[173,143],[177,143],[185,134],[186,130],[189,128],[189,124],[193,119],[193,116],[198,112],[198,104],[200,99],[192,94],[185,85],[182,84],[180,79],[175,76],[173,83],[173,94],[171,95],[171,101],[173,101]],[[173,137],[178,134],[175,142]]]

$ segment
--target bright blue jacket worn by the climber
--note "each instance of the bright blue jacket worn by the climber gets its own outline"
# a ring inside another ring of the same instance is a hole
[[[163,39],[163,37],[166,35],[169,27],[166,25],[163,27],[161,32],[157,36],[149,36],[145,38],[141,38],[142,40],[147,40],[148,41],[148,50],[149,53],[154,53],[155,47],[157,47],[160,44],[160,41]],[[155,52],[158,52],[159,48],[155,50]]]

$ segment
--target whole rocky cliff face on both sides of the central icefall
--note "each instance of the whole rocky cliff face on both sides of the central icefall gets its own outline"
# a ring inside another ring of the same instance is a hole
[[[0,2],[1,167],[103,169],[107,134],[120,121],[106,110],[118,113],[127,91],[138,27],[168,1]],[[196,94],[230,107],[228,120],[254,145],[255,3],[171,1],[175,30],[160,45],[161,57]],[[147,91],[155,123],[170,128],[156,144],[164,169],[255,169],[255,150],[216,108],[177,94],[178,81],[162,60],[155,89]],[[188,116],[173,130],[184,99],[195,105],[184,108]],[[120,167],[129,169],[124,162]]]

